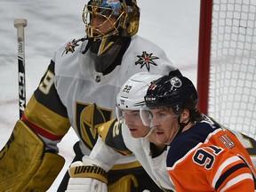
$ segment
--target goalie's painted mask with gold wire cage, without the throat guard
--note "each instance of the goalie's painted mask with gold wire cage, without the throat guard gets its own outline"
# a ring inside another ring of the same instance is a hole
[[[93,23],[95,17],[101,21]],[[140,8],[136,0],[91,0],[84,6],[86,34],[94,40],[108,36],[133,36],[138,32]],[[108,30],[102,31],[102,27]]]

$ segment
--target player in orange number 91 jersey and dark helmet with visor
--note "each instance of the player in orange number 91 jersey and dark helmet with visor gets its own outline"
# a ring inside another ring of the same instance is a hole
[[[254,191],[255,169],[236,136],[196,108],[197,92],[185,76],[151,84],[140,116],[168,146],[166,166],[177,191]]]

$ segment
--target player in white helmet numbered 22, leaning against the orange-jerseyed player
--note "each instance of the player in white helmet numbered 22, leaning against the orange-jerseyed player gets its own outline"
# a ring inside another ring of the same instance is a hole
[[[149,126],[144,125],[139,114],[140,107],[145,104],[144,96],[148,86],[158,76],[139,73],[124,83],[116,98],[117,119],[110,120],[107,124],[100,126],[100,137],[92,149],[91,155],[84,156],[83,162],[76,162],[71,165],[70,174],[76,178],[69,180],[68,188],[73,190],[80,188],[84,191],[95,192],[107,191],[106,187],[104,188],[106,177],[102,177],[101,174],[95,176],[95,173],[92,176],[89,167],[108,172],[116,164],[116,160],[122,158],[124,154],[128,156],[130,152],[137,157],[159,188],[164,191],[175,191],[165,164],[169,147],[157,142],[154,128],[150,129]],[[240,132],[233,133],[243,143],[255,166],[256,150],[253,147],[253,144],[256,143],[255,140]],[[75,173],[75,170],[83,170],[82,167],[87,167],[88,171]],[[80,184],[77,185],[77,183]],[[97,190],[93,189],[95,186],[98,186]],[[67,190],[67,192],[69,191],[72,190]]]

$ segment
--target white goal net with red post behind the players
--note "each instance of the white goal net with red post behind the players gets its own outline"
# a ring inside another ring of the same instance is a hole
[[[199,110],[256,138],[256,0],[201,0]]]

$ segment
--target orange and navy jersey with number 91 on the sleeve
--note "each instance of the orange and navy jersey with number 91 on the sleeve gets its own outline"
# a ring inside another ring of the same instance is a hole
[[[167,170],[177,191],[254,191],[255,169],[236,136],[204,116],[171,143]]]

